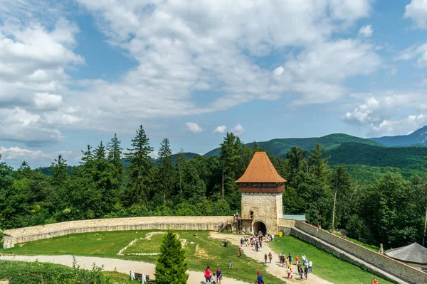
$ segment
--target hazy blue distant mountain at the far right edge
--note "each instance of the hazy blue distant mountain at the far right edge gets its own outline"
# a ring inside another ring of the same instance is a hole
[[[379,138],[370,138],[371,141],[382,143],[386,146],[427,146],[427,126],[408,135],[384,136]]]

